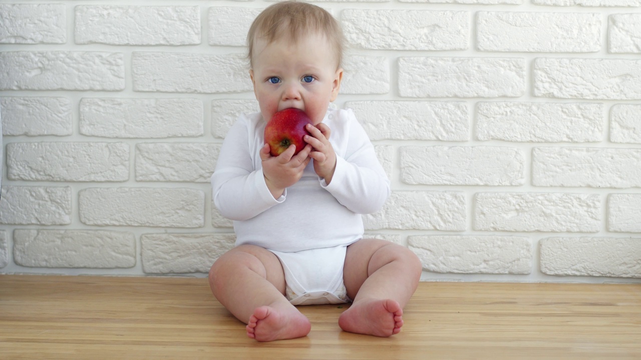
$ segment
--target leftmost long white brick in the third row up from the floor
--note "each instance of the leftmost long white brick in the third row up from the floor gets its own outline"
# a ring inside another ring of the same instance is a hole
[[[6,145],[7,176],[27,181],[127,181],[129,145],[37,142]]]

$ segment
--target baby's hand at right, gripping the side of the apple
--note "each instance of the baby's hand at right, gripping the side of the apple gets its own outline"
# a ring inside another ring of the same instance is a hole
[[[329,143],[331,130],[322,122],[317,126],[307,125],[306,129],[312,134],[305,135],[304,140],[313,147],[310,158],[314,160],[314,171],[329,184],[336,168],[336,153]]]

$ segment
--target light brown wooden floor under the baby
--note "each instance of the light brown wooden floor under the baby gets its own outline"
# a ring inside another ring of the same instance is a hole
[[[206,279],[0,275],[1,359],[641,359],[641,284],[422,282],[401,334],[258,343]]]

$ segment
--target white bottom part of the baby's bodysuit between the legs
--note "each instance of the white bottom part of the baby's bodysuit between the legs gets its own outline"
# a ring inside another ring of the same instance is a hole
[[[285,271],[285,295],[292,305],[343,304],[351,301],[343,284],[346,246],[299,252],[271,250]]]

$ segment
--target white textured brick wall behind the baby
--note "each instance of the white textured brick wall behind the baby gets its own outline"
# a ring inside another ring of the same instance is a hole
[[[269,1],[0,3],[0,272],[205,276]],[[318,1],[424,280],[641,282],[641,0]]]

